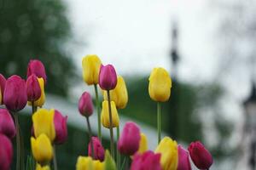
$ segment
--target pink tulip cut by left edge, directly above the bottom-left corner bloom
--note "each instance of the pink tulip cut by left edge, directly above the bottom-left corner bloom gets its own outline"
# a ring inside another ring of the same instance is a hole
[[[14,120],[6,109],[0,109],[0,133],[5,134],[9,139],[13,139],[16,134]]]

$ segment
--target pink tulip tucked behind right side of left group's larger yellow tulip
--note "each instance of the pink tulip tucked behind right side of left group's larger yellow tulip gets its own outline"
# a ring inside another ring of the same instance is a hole
[[[67,116],[62,116],[60,111],[55,110],[55,144],[63,144],[67,140]]]

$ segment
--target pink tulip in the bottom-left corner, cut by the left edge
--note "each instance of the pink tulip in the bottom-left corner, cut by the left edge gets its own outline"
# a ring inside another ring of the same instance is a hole
[[[13,159],[13,145],[9,138],[0,133],[0,169],[9,170]]]

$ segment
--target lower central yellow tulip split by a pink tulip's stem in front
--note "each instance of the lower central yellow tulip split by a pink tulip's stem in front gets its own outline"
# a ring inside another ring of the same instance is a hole
[[[116,106],[113,101],[111,103],[111,113],[112,113],[112,122],[113,127],[119,127],[119,114],[116,109]],[[102,102],[102,116],[101,116],[101,122],[103,127],[110,128],[110,122],[109,122],[109,113],[108,113],[108,101],[104,100]]]

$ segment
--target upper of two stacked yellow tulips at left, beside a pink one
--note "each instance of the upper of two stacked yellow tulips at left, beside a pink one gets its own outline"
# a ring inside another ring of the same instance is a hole
[[[55,139],[55,110],[39,109],[32,116],[35,136],[45,133],[51,142]]]

